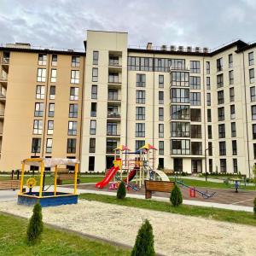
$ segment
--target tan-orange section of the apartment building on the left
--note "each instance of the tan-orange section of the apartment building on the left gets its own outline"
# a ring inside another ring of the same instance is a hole
[[[0,170],[30,157],[80,157],[84,52],[0,48]]]

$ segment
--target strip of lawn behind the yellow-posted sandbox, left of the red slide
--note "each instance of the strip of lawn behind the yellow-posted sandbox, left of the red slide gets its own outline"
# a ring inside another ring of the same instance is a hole
[[[24,182],[26,183],[26,179],[29,177],[33,177],[32,175],[26,175],[24,178]],[[39,175],[35,175],[35,178],[37,180],[37,185],[40,183],[40,176]],[[88,177],[88,176],[80,176],[80,183],[97,183],[99,181],[102,180],[103,177]],[[0,180],[9,180],[10,179],[10,175],[9,176],[3,176],[0,175]],[[54,177],[50,177],[49,175],[47,175],[45,177],[45,185],[49,185],[49,184],[54,184]],[[63,181],[63,184],[73,184],[73,180],[65,180]]]

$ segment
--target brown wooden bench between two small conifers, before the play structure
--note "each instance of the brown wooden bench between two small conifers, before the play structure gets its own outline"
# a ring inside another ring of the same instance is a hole
[[[174,182],[145,180],[145,198],[151,198],[152,192],[171,193],[174,188]]]

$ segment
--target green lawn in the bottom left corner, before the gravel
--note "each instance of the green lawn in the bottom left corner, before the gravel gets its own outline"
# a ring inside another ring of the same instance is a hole
[[[128,250],[44,226],[42,241],[26,244],[27,220],[0,214],[0,255],[130,255]]]

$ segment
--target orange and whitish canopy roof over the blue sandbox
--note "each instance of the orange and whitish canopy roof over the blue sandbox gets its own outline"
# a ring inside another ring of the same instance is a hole
[[[27,166],[41,166],[41,163],[44,162],[44,167],[55,167],[55,166],[74,166],[79,164],[78,159],[69,159],[69,158],[30,158],[22,161]]]

